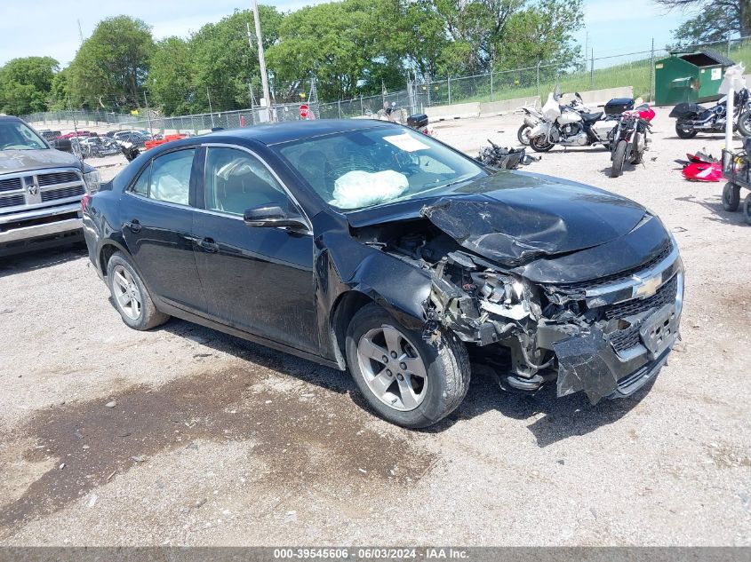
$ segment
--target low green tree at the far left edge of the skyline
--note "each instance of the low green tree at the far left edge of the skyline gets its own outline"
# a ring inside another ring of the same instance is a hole
[[[52,57],[9,60],[0,67],[0,113],[24,115],[47,109],[60,63]]]

